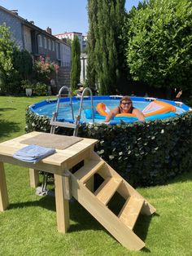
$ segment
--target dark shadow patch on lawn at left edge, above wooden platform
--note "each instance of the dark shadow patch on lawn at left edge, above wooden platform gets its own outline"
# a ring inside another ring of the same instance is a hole
[[[14,121],[0,120],[0,138],[7,137],[7,135],[20,131],[20,126]]]

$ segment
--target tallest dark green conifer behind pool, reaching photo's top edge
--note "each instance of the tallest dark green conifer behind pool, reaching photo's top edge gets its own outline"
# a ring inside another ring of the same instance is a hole
[[[88,86],[102,95],[116,93],[123,66],[120,34],[124,0],[89,0]]]

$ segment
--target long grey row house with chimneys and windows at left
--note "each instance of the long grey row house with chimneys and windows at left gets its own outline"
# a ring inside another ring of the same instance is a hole
[[[21,50],[29,51],[34,60],[42,55],[61,67],[71,66],[71,46],[52,35],[49,27],[46,30],[40,29],[34,21],[20,17],[16,10],[9,11],[0,6],[0,25],[2,24],[10,28],[15,44]]]

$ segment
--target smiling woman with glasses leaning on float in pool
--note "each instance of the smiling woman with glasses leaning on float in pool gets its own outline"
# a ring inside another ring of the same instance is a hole
[[[124,96],[120,99],[120,106],[111,109],[111,111],[107,114],[105,122],[110,121],[111,118],[116,117],[117,114],[121,113],[133,114],[138,118],[138,120],[145,121],[142,111],[133,107],[133,102],[129,96]]]

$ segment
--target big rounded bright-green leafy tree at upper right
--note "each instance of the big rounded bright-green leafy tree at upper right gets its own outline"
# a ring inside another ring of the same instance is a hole
[[[192,79],[190,0],[150,0],[126,24],[126,57],[134,80],[189,89]]]

